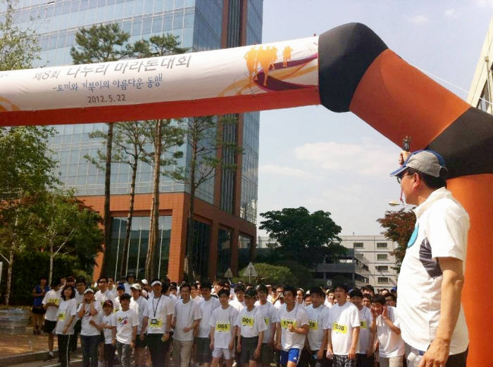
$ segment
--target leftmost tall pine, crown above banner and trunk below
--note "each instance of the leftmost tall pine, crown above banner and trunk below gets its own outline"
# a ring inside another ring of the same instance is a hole
[[[93,25],[89,29],[81,28],[75,34],[75,44],[70,49],[74,64],[106,63],[121,60],[132,55],[132,46],[127,45],[130,34],[120,30],[116,23]],[[106,141],[104,165],[104,256],[102,270],[106,269],[106,249],[111,244],[111,149],[113,148],[113,122],[101,136]]]

